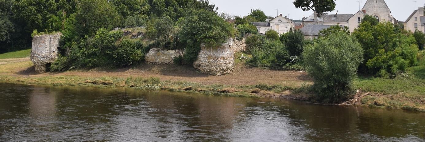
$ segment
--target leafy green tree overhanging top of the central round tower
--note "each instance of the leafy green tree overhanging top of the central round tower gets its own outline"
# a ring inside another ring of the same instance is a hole
[[[180,22],[179,40],[186,44],[185,62],[192,64],[201,50],[201,43],[207,47],[219,46],[229,37],[233,37],[235,29],[212,11],[191,11],[191,14]]]

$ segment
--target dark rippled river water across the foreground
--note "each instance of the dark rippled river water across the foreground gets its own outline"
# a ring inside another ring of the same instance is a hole
[[[281,99],[0,83],[0,141],[425,141],[425,114]]]

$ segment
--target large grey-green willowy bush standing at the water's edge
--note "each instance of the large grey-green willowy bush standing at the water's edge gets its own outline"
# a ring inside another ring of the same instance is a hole
[[[337,31],[307,45],[303,59],[319,99],[342,102],[353,92],[352,83],[363,60],[363,50],[353,36]]]

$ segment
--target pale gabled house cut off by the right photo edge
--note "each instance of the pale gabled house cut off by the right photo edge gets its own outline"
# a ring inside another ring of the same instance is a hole
[[[416,29],[425,33],[424,7],[419,7],[405,20],[404,29],[414,32]]]

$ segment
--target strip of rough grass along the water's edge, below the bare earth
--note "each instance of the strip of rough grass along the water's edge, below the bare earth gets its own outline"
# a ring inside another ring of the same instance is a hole
[[[39,84],[54,86],[94,86],[98,88],[134,88],[141,90],[167,90],[201,93],[216,96],[232,97],[280,97],[284,91],[300,91],[282,85],[203,85],[195,82],[160,80],[159,78],[141,77],[78,77],[78,76],[47,76],[47,77],[14,77],[0,75],[0,82],[19,84]],[[261,89],[259,89],[261,88]]]

